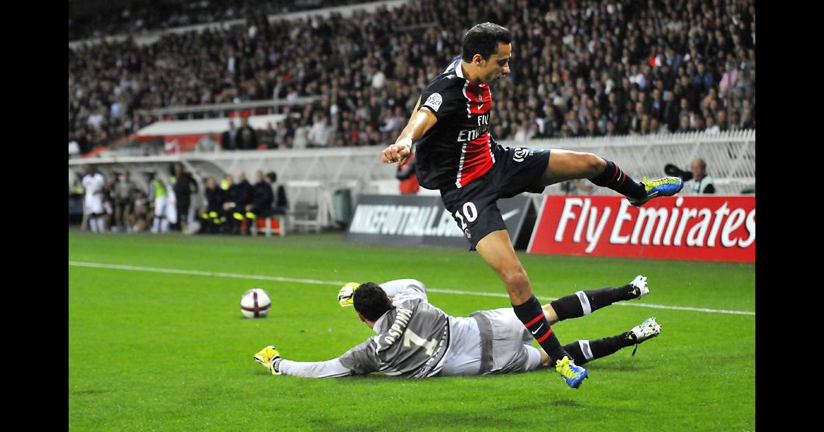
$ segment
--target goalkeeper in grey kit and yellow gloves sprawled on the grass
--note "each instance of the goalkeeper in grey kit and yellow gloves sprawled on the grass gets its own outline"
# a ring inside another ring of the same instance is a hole
[[[543,309],[553,324],[648,293],[647,278],[636,276],[625,286],[578,291],[545,304]],[[470,318],[452,317],[429,304],[426,286],[414,279],[388,281],[380,286],[372,282],[360,286],[350,283],[340,290],[338,300],[341,306],[353,304],[358,318],[377,336],[333,360],[285,360],[274,346],[266,346],[255,354],[255,361],[271,374],[309,378],[372,372],[405,378],[508,374],[551,365],[549,355],[531,345],[531,333],[512,308],[481,310]],[[574,341],[564,350],[574,357],[575,364],[583,365],[656,337],[660,332],[655,318],[648,318],[629,332]],[[583,377],[575,376],[568,363],[558,362],[555,369],[564,379],[574,379],[578,384],[586,378],[586,372]]]

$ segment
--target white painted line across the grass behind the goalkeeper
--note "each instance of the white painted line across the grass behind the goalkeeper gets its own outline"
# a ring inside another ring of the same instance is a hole
[[[230,277],[234,279],[253,279],[257,281],[278,281],[278,282],[293,282],[310,285],[344,285],[348,282],[344,281],[320,281],[317,279],[301,279],[297,277],[283,277],[283,276],[261,276],[261,275],[244,275],[240,273],[227,272],[201,272],[199,270],[182,270],[178,268],[161,268],[161,267],[143,267],[143,266],[127,266],[123,264],[103,264],[101,262],[80,262],[69,261],[69,266],[74,267],[91,267],[91,268],[108,268],[112,270],[129,270],[133,272],[154,272],[154,273],[171,273],[176,275],[192,275],[192,276],[212,276],[212,277]],[[428,292],[436,292],[440,294],[456,294],[456,295],[482,295],[487,297],[503,297],[509,298],[505,293],[499,292],[483,292],[483,291],[463,291],[463,290],[444,290],[440,288],[426,289]],[[558,300],[557,297],[536,296],[538,300]],[[666,304],[649,304],[649,303],[629,303],[618,302],[614,303],[617,306],[635,306],[639,308],[651,309],[670,309],[670,310],[689,310],[692,312],[705,312],[708,314],[731,314],[731,315],[752,315],[755,312],[750,310],[728,310],[728,309],[707,309],[707,308],[691,308],[689,306],[669,306]]]

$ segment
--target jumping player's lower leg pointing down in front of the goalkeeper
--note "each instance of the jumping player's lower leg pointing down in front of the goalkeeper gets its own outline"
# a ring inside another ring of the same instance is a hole
[[[485,235],[475,249],[503,281],[517,318],[549,354],[552,365],[556,366],[567,385],[578,388],[588,373],[586,369],[571,361],[572,357],[564,351],[564,347],[552,331],[544,310],[541,309],[541,302],[532,295],[529,276],[517,259],[507,231],[497,230]]]

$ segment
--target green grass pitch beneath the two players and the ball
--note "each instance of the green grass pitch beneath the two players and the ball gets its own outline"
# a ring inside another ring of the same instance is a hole
[[[519,253],[536,295],[648,276],[647,304],[755,310],[755,266]],[[477,253],[346,244],[343,235],[238,238],[69,231],[70,262],[320,281],[414,277],[430,288],[503,293]],[[241,317],[241,294],[273,298]],[[754,430],[752,314],[613,305],[554,326],[562,343],[625,332],[655,316],[661,336],[588,364],[567,388],[554,370],[489,377],[274,377],[252,355],[329,360],[371,336],[339,286],[68,266],[72,430]],[[502,297],[431,292],[448,314]],[[545,302],[544,302],[545,303]]]

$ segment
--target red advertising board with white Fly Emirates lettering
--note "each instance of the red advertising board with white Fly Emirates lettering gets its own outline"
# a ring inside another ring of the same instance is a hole
[[[755,262],[756,197],[547,195],[527,252]]]

